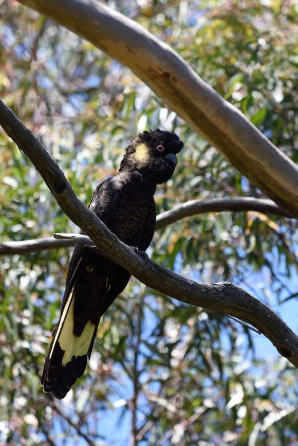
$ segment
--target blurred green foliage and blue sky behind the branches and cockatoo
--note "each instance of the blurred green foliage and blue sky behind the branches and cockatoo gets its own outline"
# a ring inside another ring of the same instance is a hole
[[[107,4],[172,46],[297,162],[295,1]],[[262,196],[128,68],[16,1],[0,0],[0,19],[0,96],[82,200],[117,172],[138,131],[157,126],[185,142],[173,179],[157,190],[158,212],[193,198]],[[2,241],[77,230],[3,132],[0,184]],[[156,232],[149,249],[185,276],[240,285],[294,330],[297,254],[297,223],[257,212],[184,219]],[[64,401],[44,394],[70,255],[1,257],[1,445],[298,444],[297,371],[269,341],[134,279],[102,319],[85,376]]]

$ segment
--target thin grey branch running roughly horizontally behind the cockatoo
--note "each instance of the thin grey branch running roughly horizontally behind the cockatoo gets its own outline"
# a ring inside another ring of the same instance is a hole
[[[263,198],[209,198],[205,200],[191,200],[174,206],[172,209],[157,215],[155,230],[175,223],[176,221],[206,212],[223,211],[257,211],[289,217],[289,214],[277,206],[273,201]],[[0,242],[0,256],[14,254],[28,254],[43,250],[68,248],[75,245],[74,239],[57,239],[55,237],[41,237],[21,242]]]

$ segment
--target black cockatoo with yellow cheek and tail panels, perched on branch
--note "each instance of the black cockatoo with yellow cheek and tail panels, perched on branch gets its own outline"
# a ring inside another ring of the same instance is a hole
[[[139,133],[126,147],[118,173],[93,192],[89,208],[138,252],[145,253],[153,238],[156,186],[172,177],[182,147],[174,132],[156,128]],[[99,320],[129,278],[128,271],[103,254],[88,246],[75,246],[60,319],[45,359],[44,392],[62,399],[84,374]]]

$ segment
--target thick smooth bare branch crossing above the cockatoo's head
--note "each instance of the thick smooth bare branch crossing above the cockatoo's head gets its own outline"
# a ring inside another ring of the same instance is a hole
[[[266,195],[298,216],[298,167],[169,46],[97,0],[19,0],[129,66]]]

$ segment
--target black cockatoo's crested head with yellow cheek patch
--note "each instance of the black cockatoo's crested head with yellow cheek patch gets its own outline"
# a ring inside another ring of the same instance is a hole
[[[182,147],[176,133],[159,128],[144,131],[126,148],[119,172],[138,171],[155,184],[165,183],[174,173]]]

